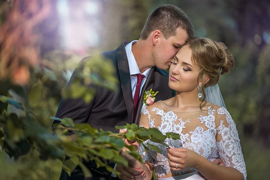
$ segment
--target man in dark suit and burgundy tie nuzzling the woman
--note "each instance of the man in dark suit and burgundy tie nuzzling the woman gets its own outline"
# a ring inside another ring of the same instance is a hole
[[[174,5],[158,7],[148,16],[138,41],[123,42],[117,49],[102,53],[115,65],[116,77],[120,81],[119,91],[96,87],[96,96],[89,104],[81,99],[62,99],[56,117],[69,117],[75,123],[89,123],[105,131],[114,131],[114,126],[126,123],[138,125],[145,90],[152,88],[159,91],[156,101],[174,96],[174,91],[168,87],[168,73],[165,70],[193,31],[190,19],[180,8]],[[80,71],[83,61],[74,73]],[[72,77],[68,85],[71,83]],[[118,179],[105,168],[97,168],[94,162],[85,165],[93,175],[90,179]],[[143,176],[141,169],[125,168],[113,163],[109,165],[122,174],[122,179]],[[80,167],[76,167],[71,177],[62,170],[60,179],[83,180],[84,176]]]

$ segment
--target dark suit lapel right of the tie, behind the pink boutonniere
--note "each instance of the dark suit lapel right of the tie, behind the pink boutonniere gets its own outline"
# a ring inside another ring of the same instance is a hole
[[[154,67],[151,68],[150,73],[146,79],[146,82],[144,83],[143,88],[141,89],[141,95],[138,101],[137,105],[137,110],[136,110],[136,115],[135,115],[135,124],[139,124],[140,121],[140,114],[141,114],[141,107],[143,103],[143,98],[144,98],[144,92],[147,90],[150,90],[151,88],[153,89],[155,84],[155,76],[154,76]],[[133,105],[134,106],[134,105]]]

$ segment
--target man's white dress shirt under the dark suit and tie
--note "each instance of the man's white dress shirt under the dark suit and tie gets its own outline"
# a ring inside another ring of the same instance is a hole
[[[131,41],[129,44],[126,45],[126,56],[128,58],[129,62],[129,72],[130,72],[130,82],[131,82],[131,91],[132,91],[132,98],[134,97],[135,91],[136,91],[136,85],[137,85],[137,76],[135,74],[142,74],[144,75],[144,79],[141,82],[140,87],[140,95],[141,95],[141,89],[144,86],[144,83],[150,73],[151,68],[145,70],[143,73],[140,72],[138,64],[134,58],[134,55],[132,53],[132,45],[135,44],[138,40]],[[114,170],[116,169],[116,165],[114,166]],[[116,177],[115,173],[112,173],[111,176]]]

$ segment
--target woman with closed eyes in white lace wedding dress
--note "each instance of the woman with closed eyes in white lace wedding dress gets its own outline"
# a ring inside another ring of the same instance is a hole
[[[220,42],[191,37],[179,50],[169,70],[169,87],[176,96],[147,106],[140,126],[158,128],[163,134],[180,134],[181,140],[166,139],[170,148],[158,146],[161,154],[149,149],[143,156],[144,179],[158,180],[246,179],[246,166],[235,123],[224,108],[205,101],[205,88],[217,84],[221,74],[234,65],[232,55]],[[218,156],[225,163],[212,163]]]

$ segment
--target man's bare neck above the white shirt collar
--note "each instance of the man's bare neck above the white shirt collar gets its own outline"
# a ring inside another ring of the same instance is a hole
[[[151,60],[151,48],[147,45],[149,44],[147,41],[139,39],[132,45],[132,53],[141,73],[154,66]]]

